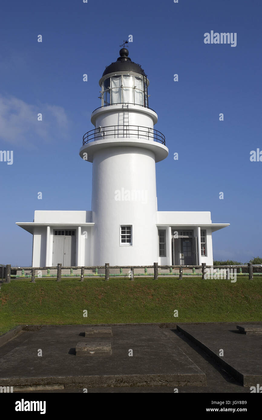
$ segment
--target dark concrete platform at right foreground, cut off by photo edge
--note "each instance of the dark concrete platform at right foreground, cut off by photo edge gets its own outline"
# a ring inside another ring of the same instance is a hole
[[[246,323],[239,323],[244,326]],[[262,323],[251,324],[253,328]],[[262,383],[262,336],[239,334],[236,323],[183,323],[177,331],[188,337],[243,386]],[[220,350],[223,356],[220,356]]]

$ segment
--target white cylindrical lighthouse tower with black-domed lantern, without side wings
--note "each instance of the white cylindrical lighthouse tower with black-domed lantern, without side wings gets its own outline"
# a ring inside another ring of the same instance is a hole
[[[168,155],[153,129],[148,79],[122,48],[99,81],[102,106],[80,156],[93,162],[92,265],[152,265],[158,261],[156,162]]]

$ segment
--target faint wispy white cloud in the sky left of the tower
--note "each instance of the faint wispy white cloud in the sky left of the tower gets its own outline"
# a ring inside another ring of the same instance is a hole
[[[37,115],[42,114],[42,121]],[[52,142],[66,136],[68,119],[64,108],[56,105],[31,105],[16,97],[0,95],[0,140],[25,148],[36,148],[38,141]]]

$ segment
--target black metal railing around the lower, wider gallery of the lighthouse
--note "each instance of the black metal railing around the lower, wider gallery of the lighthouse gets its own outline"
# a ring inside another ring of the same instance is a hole
[[[91,141],[102,140],[106,136],[111,136],[114,139],[127,137],[138,138],[141,140],[159,142],[164,144],[164,146],[166,144],[165,136],[164,134],[160,133],[160,131],[148,127],[119,125],[98,127],[96,129],[87,131],[87,133],[85,133],[83,136],[83,146]]]

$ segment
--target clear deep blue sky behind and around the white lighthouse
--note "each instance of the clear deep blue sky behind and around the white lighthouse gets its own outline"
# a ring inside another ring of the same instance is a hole
[[[230,223],[213,234],[215,260],[262,257],[262,162],[250,161],[262,150],[261,16],[261,0],[2,5],[0,150],[13,150],[13,164],[0,162],[0,263],[31,265],[32,235],[15,222],[34,210],[91,209],[92,165],[79,148],[100,106],[98,80],[130,34],[169,148],[156,165],[158,210]],[[237,33],[236,47],[204,44],[212,30]]]

